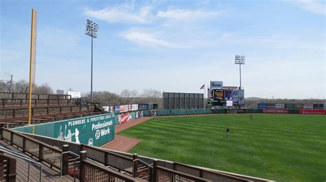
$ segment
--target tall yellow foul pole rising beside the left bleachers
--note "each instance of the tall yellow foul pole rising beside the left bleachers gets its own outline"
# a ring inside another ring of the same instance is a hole
[[[28,97],[28,125],[30,125],[32,111],[32,90],[35,83],[35,64],[36,64],[36,22],[37,12],[32,10],[32,26],[30,34],[30,96]],[[34,133],[34,129],[33,129]]]

